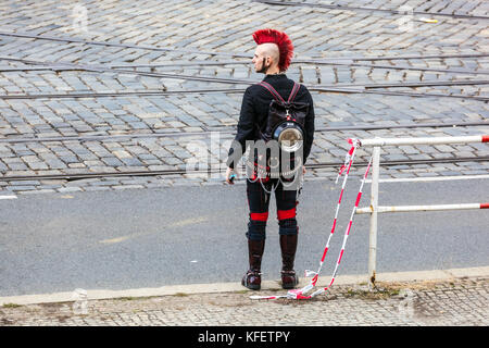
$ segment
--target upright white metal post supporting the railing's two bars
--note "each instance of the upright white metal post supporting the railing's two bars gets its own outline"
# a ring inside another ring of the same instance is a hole
[[[371,233],[368,239],[368,289],[375,283],[375,263],[377,252],[377,207],[378,207],[378,178],[380,169],[380,147],[374,147],[371,185]]]

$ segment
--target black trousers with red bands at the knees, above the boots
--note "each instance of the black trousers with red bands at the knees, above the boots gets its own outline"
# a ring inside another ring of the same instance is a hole
[[[248,239],[263,240],[266,238],[266,223],[272,192],[275,192],[277,204],[278,233],[280,235],[297,235],[299,233],[296,219],[297,190],[287,189],[278,178],[268,178],[266,182],[247,179],[247,197],[250,209]]]

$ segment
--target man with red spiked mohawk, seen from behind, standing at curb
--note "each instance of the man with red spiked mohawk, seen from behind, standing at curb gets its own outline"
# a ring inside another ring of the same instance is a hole
[[[303,147],[301,148],[302,164],[305,163],[311,152],[314,137],[312,97],[305,86],[294,83],[285,74],[293,55],[293,46],[290,38],[279,30],[261,29],[253,33],[253,39],[258,46],[252,63],[255,72],[265,74],[265,77],[260,84],[248,87],[244,92],[237,134],[227,159],[226,182],[228,184],[233,184],[235,164],[238,163],[241,154],[244,153],[247,142],[263,139],[265,141],[271,140],[268,111],[273,108],[275,100],[277,102],[281,100],[286,107],[290,107],[291,104],[288,102],[292,102],[292,100],[296,104],[302,105],[300,107],[302,111],[298,111],[298,113],[302,112],[301,128],[304,133]],[[289,115],[288,111],[287,115]],[[252,156],[250,153],[249,157]],[[254,164],[256,165],[256,162]],[[267,163],[267,165],[271,164]],[[266,170],[269,170],[269,166],[266,166]],[[305,173],[305,170],[303,172]],[[286,289],[294,288],[298,285],[298,276],[293,270],[299,232],[296,219],[298,188],[287,188],[281,179],[272,176],[259,179],[256,177],[248,177],[247,179],[247,198],[250,211],[246,234],[248,238],[249,270],[241,283],[249,289],[259,290],[261,288],[261,264],[265,247],[268,203],[271,192],[275,191],[283,260],[281,286]]]

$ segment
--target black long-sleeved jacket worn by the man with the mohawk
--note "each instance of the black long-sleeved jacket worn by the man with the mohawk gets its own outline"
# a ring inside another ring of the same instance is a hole
[[[287,100],[293,87],[293,80],[286,75],[266,75],[263,79],[271,84],[275,90]],[[252,85],[247,88],[242,98],[241,113],[239,115],[238,132],[235,140],[241,145],[241,153],[244,153],[247,140],[259,140],[260,132],[264,132],[266,128],[266,121],[268,117],[268,107],[274,99],[272,94],[260,85]],[[310,152],[312,142],[314,139],[314,105],[311,94],[305,86],[301,85],[294,101],[308,102],[310,104],[309,113],[305,116],[305,142],[303,152],[303,163],[305,163]],[[234,156],[234,148],[229,149],[228,159],[226,164],[229,167],[234,167],[240,158]]]

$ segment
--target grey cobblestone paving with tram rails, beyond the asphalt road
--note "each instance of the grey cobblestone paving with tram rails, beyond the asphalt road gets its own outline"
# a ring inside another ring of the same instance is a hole
[[[487,124],[428,125],[487,121],[487,2],[322,4],[330,3],[2,1],[0,195],[222,184],[205,173],[82,181],[22,176],[222,169],[242,91],[262,77],[250,64],[251,33],[265,26],[290,35],[296,60],[288,76],[314,97],[317,132],[308,164],[341,162],[350,137],[489,133]],[[399,86],[406,83],[414,85]],[[333,87],[356,91],[318,90]],[[391,92],[400,95],[386,95]],[[386,128],[348,128],[373,124]],[[369,150],[358,156],[366,161]],[[488,156],[488,145],[471,144],[387,147],[381,159]],[[383,176],[488,169],[488,161],[398,165]],[[310,170],[306,179],[334,177],[336,170]]]

